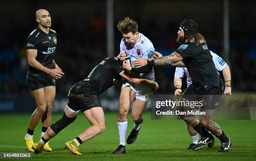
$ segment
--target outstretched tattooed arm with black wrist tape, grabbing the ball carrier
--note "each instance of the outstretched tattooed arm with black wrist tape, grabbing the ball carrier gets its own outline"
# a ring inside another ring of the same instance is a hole
[[[180,67],[182,67],[184,63],[179,62],[181,60],[183,60],[182,56],[179,55],[179,53],[177,52],[173,52],[171,55],[162,56],[161,58],[156,58],[154,60],[153,59],[146,60],[146,59],[139,58],[137,60],[134,60],[132,64],[135,66],[135,68],[141,68],[147,65],[148,62],[150,63],[150,65],[172,65],[174,63],[177,63],[176,65],[179,65]]]

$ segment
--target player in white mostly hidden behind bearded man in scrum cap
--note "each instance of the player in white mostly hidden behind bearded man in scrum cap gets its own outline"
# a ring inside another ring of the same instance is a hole
[[[223,72],[223,77],[225,79],[225,91],[224,91],[224,95],[225,97],[231,95],[231,86],[230,86],[230,81],[231,81],[231,74],[230,74],[230,69],[228,64],[217,54],[213,53],[212,51],[210,51],[211,55],[212,55],[212,60],[213,63],[215,65],[215,68],[220,72]],[[160,58],[162,57],[161,53],[159,52],[154,52],[154,57],[155,58]],[[184,77],[184,75],[186,74],[187,76],[187,86],[189,86],[190,84],[192,84],[192,79],[189,75],[189,72],[187,70],[187,68],[185,67],[176,67],[175,69],[175,74],[174,74],[174,87],[175,87],[175,92],[174,95],[175,96],[179,96],[182,93],[182,78]],[[198,143],[199,140],[199,136],[197,131],[195,131],[191,126],[189,126],[186,123],[187,126],[187,131],[191,137],[192,143],[186,148],[186,149],[193,149],[193,147]],[[212,147],[214,145],[215,141],[212,141],[211,143],[207,144],[208,147]]]

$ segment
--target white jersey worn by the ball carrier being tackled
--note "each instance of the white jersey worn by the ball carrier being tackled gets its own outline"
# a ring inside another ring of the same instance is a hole
[[[134,45],[126,44],[125,38],[123,38],[120,43],[120,53],[125,52],[127,56],[133,55],[137,59],[138,58],[154,59],[154,51],[155,51],[155,48],[153,44],[142,33],[139,33],[138,42]],[[154,76],[154,69],[152,69],[151,73],[140,74],[140,75],[143,78],[151,78],[152,76]]]

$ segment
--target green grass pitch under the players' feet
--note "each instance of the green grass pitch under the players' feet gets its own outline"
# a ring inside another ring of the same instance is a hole
[[[62,114],[53,114],[53,121]],[[200,151],[184,150],[190,141],[182,120],[151,120],[150,113],[144,114],[144,123],[135,143],[126,145],[126,153],[111,154],[118,147],[118,128],[116,113],[106,113],[106,130],[100,135],[84,142],[80,147],[82,156],[73,156],[64,149],[64,143],[77,137],[90,126],[82,113],[74,123],[61,131],[50,141],[52,152],[42,155],[32,154],[33,160],[88,160],[88,161],[163,161],[163,160],[256,160],[256,120],[220,120],[216,121],[233,141],[228,153],[216,153],[220,141],[216,139],[215,146],[205,147]],[[0,152],[25,153],[24,136],[31,114],[0,114]],[[133,122],[128,116],[128,132]],[[41,123],[34,132],[34,141],[41,135]],[[3,159],[3,158],[2,158]],[[1,158],[0,158],[1,160]],[[17,160],[17,159],[8,159]],[[28,160],[28,159],[23,159]]]

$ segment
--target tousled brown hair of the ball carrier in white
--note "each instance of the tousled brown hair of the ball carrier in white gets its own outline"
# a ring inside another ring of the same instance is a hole
[[[132,32],[134,35],[136,32],[138,32],[138,24],[135,20],[132,20],[129,17],[126,17],[125,19],[119,21],[117,27],[118,30],[124,34]]]

